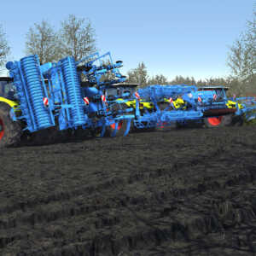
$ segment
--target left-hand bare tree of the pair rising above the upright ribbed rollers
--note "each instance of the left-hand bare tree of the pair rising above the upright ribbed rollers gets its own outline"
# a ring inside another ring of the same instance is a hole
[[[61,57],[61,41],[57,32],[43,20],[35,23],[26,34],[26,54],[38,55],[40,63],[57,61]]]

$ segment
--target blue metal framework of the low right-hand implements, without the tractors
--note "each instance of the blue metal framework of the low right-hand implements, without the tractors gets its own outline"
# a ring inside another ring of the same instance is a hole
[[[206,88],[205,88],[206,89]],[[159,85],[154,84],[146,88],[137,90],[139,97],[134,96],[136,99],[135,119],[134,126],[137,129],[147,129],[157,126],[171,125],[173,122],[186,123],[189,120],[201,121],[206,117],[206,113],[209,110],[226,110],[229,113],[227,106],[228,98],[225,94],[224,86],[218,86],[218,90],[221,90],[218,95],[216,90],[201,90],[194,85],[175,84],[175,85]],[[216,98],[214,99],[214,95]],[[165,102],[165,99],[172,98],[176,100],[177,97],[181,97],[186,103],[186,109],[172,108],[173,103],[165,109],[160,109],[159,103]],[[242,107],[238,108],[236,104],[236,115],[246,114],[246,119],[256,118],[256,100],[255,98],[238,98],[236,100],[242,101]],[[152,102],[154,108],[148,111],[147,108],[140,109],[140,102]],[[249,104],[246,104],[249,103]],[[217,113],[207,115],[207,117],[219,116],[223,113]]]

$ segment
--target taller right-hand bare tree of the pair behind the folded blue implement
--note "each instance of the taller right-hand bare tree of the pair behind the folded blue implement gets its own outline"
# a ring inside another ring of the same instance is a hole
[[[69,15],[61,22],[62,55],[72,55],[76,61],[96,50],[95,30],[90,20]]]

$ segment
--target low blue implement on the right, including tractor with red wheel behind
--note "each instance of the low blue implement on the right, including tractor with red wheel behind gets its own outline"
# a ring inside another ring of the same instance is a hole
[[[136,129],[163,128],[175,123],[183,126],[189,122],[208,127],[241,124],[243,119],[253,119],[256,109],[254,98],[228,99],[224,86],[197,88],[185,84],[150,85],[138,89],[135,119]],[[239,101],[237,101],[239,100]],[[147,107],[144,102],[148,102]]]

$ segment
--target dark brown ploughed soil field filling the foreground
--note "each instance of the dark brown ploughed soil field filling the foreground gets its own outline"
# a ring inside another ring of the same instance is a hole
[[[0,255],[255,255],[256,126],[0,151]]]

